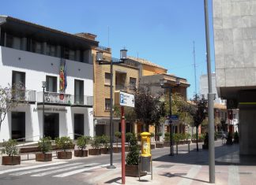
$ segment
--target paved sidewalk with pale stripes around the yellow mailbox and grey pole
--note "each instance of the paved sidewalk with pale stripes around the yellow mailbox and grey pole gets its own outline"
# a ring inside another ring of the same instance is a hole
[[[218,142],[217,142],[218,143]],[[220,143],[219,143],[220,144]],[[157,150],[157,149],[156,149]],[[208,150],[190,151],[174,157],[164,155],[152,161],[151,176],[126,177],[126,184],[209,184]],[[101,168],[86,179],[92,184],[121,184],[121,166]],[[216,183],[215,184],[256,184],[256,156],[239,157],[239,146],[216,146]]]

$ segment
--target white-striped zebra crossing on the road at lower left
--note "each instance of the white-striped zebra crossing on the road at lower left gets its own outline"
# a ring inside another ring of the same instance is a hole
[[[7,174],[9,176],[52,176],[52,177],[66,177],[73,176],[81,172],[92,171],[97,168],[107,167],[109,164],[90,163],[85,164],[82,162],[68,163],[66,161],[54,162],[43,165],[32,165],[21,168],[11,168],[0,170],[0,175]]]

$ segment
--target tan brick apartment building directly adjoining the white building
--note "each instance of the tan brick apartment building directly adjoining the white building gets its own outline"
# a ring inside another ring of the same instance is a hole
[[[110,134],[110,107],[111,107],[111,72],[110,65],[99,65],[96,61],[96,52],[104,52],[104,60],[118,61],[111,57],[111,48],[99,46],[92,50],[94,62],[94,127],[95,135]],[[139,68],[134,61],[126,60],[124,64],[113,65],[113,102],[115,91],[134,93],[139,81]],[[121,131],[120,117],[113,117],[114,133]],[[126,121],[126,132],[134,132],[135,125]]]

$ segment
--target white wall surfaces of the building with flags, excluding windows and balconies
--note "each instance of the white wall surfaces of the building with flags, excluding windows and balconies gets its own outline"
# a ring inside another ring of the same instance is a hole
[[[6,87],[12,83],[12,71],[25,72],[25,86],[27,90],[43,91],[42,81],[46,76],[57,76],[61,59],[43,54],[34,54],[23,50],[0,46],[0,86]],[[84,95],[93,96],[93,65],[66,60],[67,87],[66,94],[74,94],[74,80],[84,80]],[[59,78],[58,78],[59,80]],[[57,80],[57,91],[59,83]],[[42,110],[35,110],[37,105],[21,105],[17,111],[26,113],[25,137],[27,140],[37,141],[42,135]],[[73,138],[73,116],[70,107],[66,107],[67,113],[59,112],[59,136],[69,135]],[[91,108],[81,109],[85,114],[85,134],[93,135],[93,115]],[[47,111],[46,111],[47,113]],[[11,113],[2,123],[0,140],[9,139],[11,136]]]

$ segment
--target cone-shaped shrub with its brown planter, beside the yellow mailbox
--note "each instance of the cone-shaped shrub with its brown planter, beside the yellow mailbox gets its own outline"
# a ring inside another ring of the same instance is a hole
[[[137,138],[135,135],[130,139],[129,152],[126,156],[126,176],[138,176],[138,162],[140,147],[137,145]],[[146,173],[141,173],[141,176],[146,175]]]

